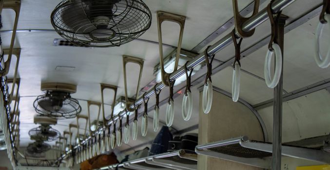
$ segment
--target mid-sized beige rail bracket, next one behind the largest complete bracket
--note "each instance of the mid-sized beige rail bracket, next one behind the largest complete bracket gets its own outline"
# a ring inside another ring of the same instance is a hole
[[[127,94],[127,75],[126,75],[126,64],[127,63],[135,63],[140,66],[140,72],[138,75],[138,81],[137,81],[137,86],[136,86],[136,95],[135,95],[135,100],[138,97],[138,91],[140,88],[140,81],[142,77],[142,70],[143,70],[143,64],[144,61],[143,59],[128,56],[128,55],[123,55],[123,68],[124,68],[124,84],[125,84],[125,100],[126,100],[126,109],[130,112],[133,112],[135,108],[130,108],[130,105],[134,104],[135,101],[129,100],[128,94]]]

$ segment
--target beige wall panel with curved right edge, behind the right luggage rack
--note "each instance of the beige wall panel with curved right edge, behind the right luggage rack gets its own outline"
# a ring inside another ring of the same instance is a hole
[[[202,92],[200,92],[202,99]],[[233,102],[231,98],[213,92],[213,103],[209,114],[204,114],[199,101],[198,144],[238,136],[249,136],[253,140],[263,140],[260,124],[245,105]],[[198,170],[259,170],[252,166],[198,155]]]

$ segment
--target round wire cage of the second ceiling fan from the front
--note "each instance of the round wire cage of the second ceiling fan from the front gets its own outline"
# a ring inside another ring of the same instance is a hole
[[[58,100],[58,97],[54,96],[53,92],[47,91],[46,94],[37,97],[33,103],[33,106],[40,116],[46,116],[54,119],[76,118],[77,115],[81,112],[81,106],[79,105],[78,100],[71,98],[69,93],[66,93],[66,95],[63,97],[62,106],[59,110],[44,108],[40,105],[40,102],[51,102],[54,100]]]

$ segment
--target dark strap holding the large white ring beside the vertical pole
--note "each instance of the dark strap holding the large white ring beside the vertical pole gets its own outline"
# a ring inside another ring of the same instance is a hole
[[[271,2],[267,6],[267,14],[268,14],[269,20],[271,22],[271,26],[272,26],[271,40],[268,44],[268,49],[270,51],[274,51],[274,49],[272,49],[272,43],[278,44],[277,43],[277,35],[278,35],[277,25],[278,25],[278,21],[281,16],[281,13],[282,13],[282,11],[279,11],[277,13],[274,13],[272,11],[272,2],[273,2],[273,0],[271,0]],[[276,16],[274,16],[274,15],[276,15]]]

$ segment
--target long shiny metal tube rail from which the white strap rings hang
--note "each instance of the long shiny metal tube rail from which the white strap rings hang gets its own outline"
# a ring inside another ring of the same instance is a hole
[[[292,2],[294,2],[295,0],[275,0],[272,3],[272,10],[274,13],[283,10],[284,8],[286,8],[288,5],[290,5]],[[255,16],[251,17],[249,20],[247,20],[244,24],[243,24],[243,31],[251,31],[252,29],[254,29],[255,27],[257,27],[258,25],[260,25],[261,23],[263,23],[264,21],[266,21],[268,19],[268,15],[267,15],[267,10],[266,8],[263,9],[262,11],[260,11],[259,13],[257,13]],[[236,35],[238,37],[238,35]],[[225,47],[227,47],[228,45],[230,45],[233,42],[232,39],[232,35],[231,34],[227,34],[225,35],[222,39],[220,39],[219,41],[217,41],[214,45],[212,45],[209,50],[207,51],[209,56],[212,56],[214,53],[219,52],[221,50],[223,50]],[[194,68],[196,66],[198,66],[199,64],[201,64],[202,62],[205,61],[205,56],[204,53],[197,55],[192,61],[188,62],[187,64],[187,68],[191,69]],[[181,67],[179,69],[177,69],[175,72],[173,72],[170,75],[170,79],[171,80],[175,80],[177,78],[179,78],[180,76],[182,76],[183,74],[185,74],[184,68]],[[158,84],[156,85],[156,89],[162,89],[164,88],[165,85],[163,84]],[[151,96],[155,95],[155,91],[152,88],[151,90],[149,90],[147,93],[145,93],[145,97],[146,98],[150,98]],[[140,97],[136,100],[135,105],[139,105],[143,102],[143,98]],[[130,108],[134,108],[134,104],[132,104],[130,106]],[[113,120],[117,120],[119,117],[123,116],[125,113],[125,110],[121,111],[116,117],[114,117],[114,119],[111,119],[107,122],[108,125],[113,123]],[[98,131],[94,134],[96,135],[98,132],[102,131],[102,128],[99,128]],[[81,143],[84,144],[86,143],[88,140],[90,140],[92,137],[89,136],[87,139],[85,139],[84,141],[82,141]],[[79,145],[75,146],[73,149],[78,148]],[[58,160],[63,159],[67,154],[69,154],[72,151],[69,151],[65,154],[63,154],[60,158],[58,158]]]

